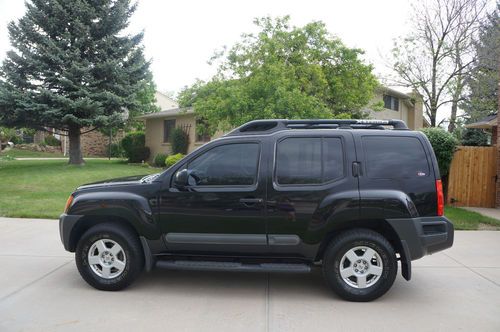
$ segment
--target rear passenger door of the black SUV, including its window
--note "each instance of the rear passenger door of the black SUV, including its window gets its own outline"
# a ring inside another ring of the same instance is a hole
[[[358,217],[356,160],[349,131],[279,134],[271,144],[267,219],[270,251],[311,259],[331,218]]]

